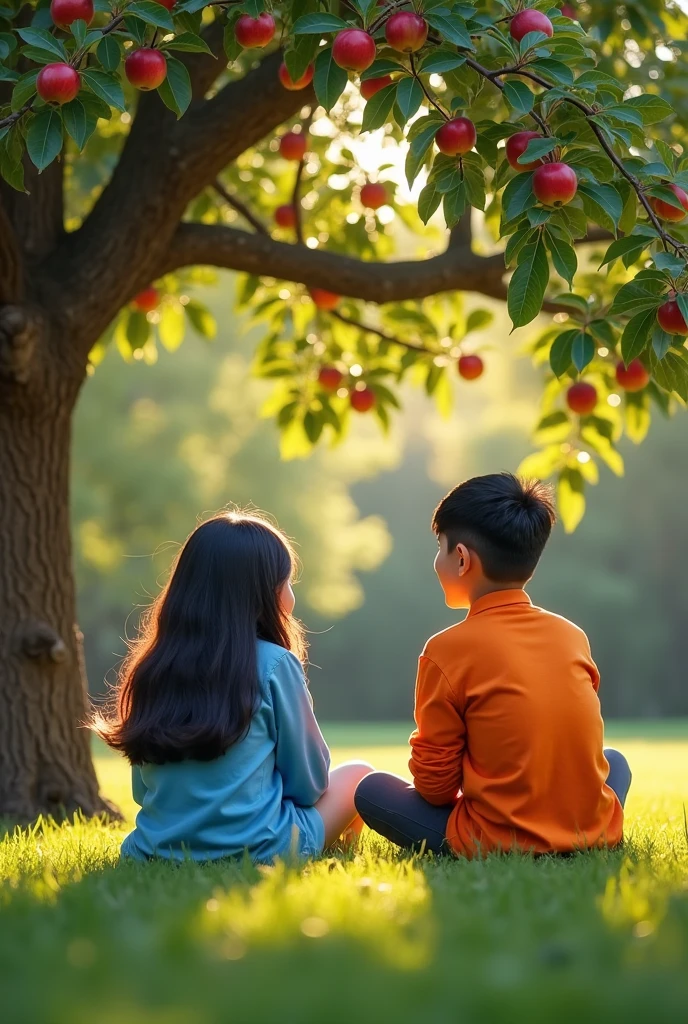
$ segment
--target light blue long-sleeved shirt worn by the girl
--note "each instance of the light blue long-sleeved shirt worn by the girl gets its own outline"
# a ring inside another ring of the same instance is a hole
[[[259,640],[258,678],[249,731],[221,758],[133,768],[140,810],[123,855],[215,860],[248,850],[266,862],[321,852],[325,826],[313,805],[328,787],[330,752],[301,663]]]

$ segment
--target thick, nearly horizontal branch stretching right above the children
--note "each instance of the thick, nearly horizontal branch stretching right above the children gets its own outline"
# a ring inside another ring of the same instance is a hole
[[[465,249],[447,249],[426,260],[373,263],[217,224],[180,224],[160,260],[159,274],[206,263],[310,288],[331,290],[336,281],[342,295],[368,302],[422,299],[449,291],[496,298],[505,294],[501,254],[476,256]]]

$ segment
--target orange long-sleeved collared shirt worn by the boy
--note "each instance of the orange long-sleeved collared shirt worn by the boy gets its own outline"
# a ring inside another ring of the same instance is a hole
[[[585,633],[522,590],[481,597],[421,655],[410,768],[466,856],[620,842]]]

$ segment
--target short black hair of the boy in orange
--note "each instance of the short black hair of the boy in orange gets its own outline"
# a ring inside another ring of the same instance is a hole
[[[524,583],[540,561],[556,520],[552,490],[512,473],[474,476],[442,498],[432,528],[449,549],[472,548],[494,583]]]

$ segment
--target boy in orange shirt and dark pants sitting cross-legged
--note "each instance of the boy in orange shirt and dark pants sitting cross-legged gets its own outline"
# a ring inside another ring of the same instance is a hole
[[[398,846],[474,857],[621,841],[631,772],[602,749],[588,638],[523,590],[554,520],[549,489],[509,473],[474,477],[435,509],[435,571],[468,617],[421,655],[415,785],[374,772],[355,796],[363,821]]]

